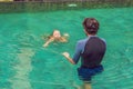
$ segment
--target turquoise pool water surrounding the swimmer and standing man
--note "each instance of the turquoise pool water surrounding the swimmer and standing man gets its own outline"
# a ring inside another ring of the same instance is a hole
[[[0,89],[74,89],[76,66],[61,52],[73,56],[78,40],[85,38],[82,21],[94,17],[99,36],[108,43],[104,72],[92,80],[93,89],[133,89],[133,8],[65,10],[0,14]],[[43,36],[60,29],[68,43],[43,48]]]

